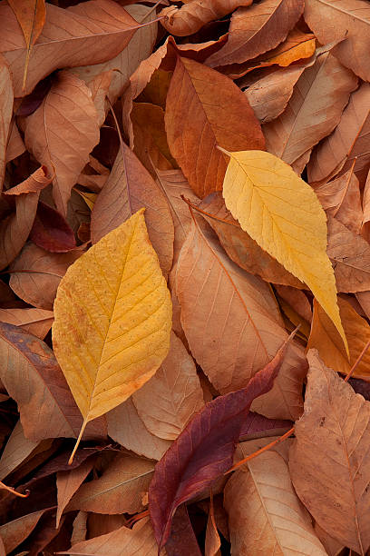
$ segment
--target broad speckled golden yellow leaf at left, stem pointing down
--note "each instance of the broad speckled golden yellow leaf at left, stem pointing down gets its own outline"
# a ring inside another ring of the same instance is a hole
[[[84,426],[141,388],[170,349],[170,292],[141,209],[83,253],[54,303],[54,353]]]

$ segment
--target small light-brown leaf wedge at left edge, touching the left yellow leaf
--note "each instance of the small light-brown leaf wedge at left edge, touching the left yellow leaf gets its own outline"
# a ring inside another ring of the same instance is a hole
[[[44,309],[0,309],[0,322],[15,324],[27,333],[34,334],[41,340],[52,328],[53,311]]]

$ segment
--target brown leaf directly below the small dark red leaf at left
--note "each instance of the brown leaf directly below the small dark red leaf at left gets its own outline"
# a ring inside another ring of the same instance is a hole
[[[26,303],[40,309],[53,310],[57,287],[69,265],[81,254],[77,250],[48,253],[34,243],[27,243],[10,266],[9,284]]]

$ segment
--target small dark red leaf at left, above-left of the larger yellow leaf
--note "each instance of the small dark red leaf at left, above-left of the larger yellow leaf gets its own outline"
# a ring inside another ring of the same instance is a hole
[[[37,207],[30,239],[52,253],[67,253],[76,246],[73,230],[62,214],[42,202]]]

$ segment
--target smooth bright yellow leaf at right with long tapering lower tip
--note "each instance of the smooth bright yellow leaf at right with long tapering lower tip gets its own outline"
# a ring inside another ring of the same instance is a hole
[[[326,254],[326,214],[315,192],[274,154],[228,154],[223,196],[230,213],[262,249],[307,283],[348,352],[334,271]]]

